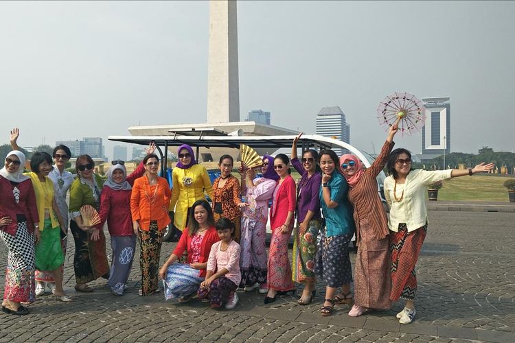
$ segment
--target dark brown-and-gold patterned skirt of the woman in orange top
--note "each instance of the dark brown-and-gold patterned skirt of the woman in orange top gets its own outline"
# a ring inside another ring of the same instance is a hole
[[[154,294],[159,274],[159,255],[165,230],[157,228],[157,221],[150,222],[148,231],[139,229],[139,267],[141,268],[141,292]]]

